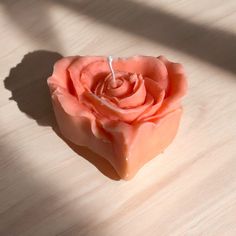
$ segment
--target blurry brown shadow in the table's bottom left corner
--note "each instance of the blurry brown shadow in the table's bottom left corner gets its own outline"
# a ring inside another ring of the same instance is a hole
[[[42,175],[22,159],[21,149],[0,140],[1,236],[57,235],[59,232],[60,235],[72,235],[73,232],[79,235],[90,224],[96,224],[96,214],[91,214],[93,209],[78,204],[80,195],[68,197],[74,188],[80,188],[81,183],[61,188],[57,182],[46,181],[46,176],[42,180]],[[52,172],[47,177],[54,179],[55,176]],[[86,236],[92,235],[86,233]]]

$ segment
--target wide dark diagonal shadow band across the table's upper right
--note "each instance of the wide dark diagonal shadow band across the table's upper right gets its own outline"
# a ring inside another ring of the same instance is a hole
[[[236,35],[191,22],[132,0],[58,0],[58,4],[97,22],[196,57],[236,73]]]

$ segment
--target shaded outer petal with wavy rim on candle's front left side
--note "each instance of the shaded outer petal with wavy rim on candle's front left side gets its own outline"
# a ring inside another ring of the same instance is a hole
[[[71,109],[71,106],[78,104],[61,92],[53,94],[52,102],[58,126],[64,137],[74,144],[90,147],[106,159],[114,156],[108,134],[96,122],[91,112],[81,105],[76,110]]]

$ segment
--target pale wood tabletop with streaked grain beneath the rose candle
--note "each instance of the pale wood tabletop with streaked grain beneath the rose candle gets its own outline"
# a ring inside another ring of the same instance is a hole
[[[1,236],[236,235],[235,0],[2,0],[0,52]],[[46,78],[76,54],[185,66],[179,133],[131,181],[58,135]]]

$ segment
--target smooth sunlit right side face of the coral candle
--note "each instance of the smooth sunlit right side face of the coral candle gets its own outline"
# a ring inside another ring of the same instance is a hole
[[[176,136],[181,114],[182,109],[177,109],[156,123],[140,123],[129,148],[126,179],[132,178],[145,163],[170,145]]]

